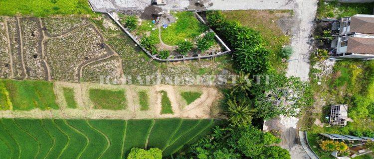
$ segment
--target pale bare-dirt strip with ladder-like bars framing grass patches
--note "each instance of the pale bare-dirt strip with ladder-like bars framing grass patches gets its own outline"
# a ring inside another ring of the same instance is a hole
[[[63,96],[63,87],[74,89],[77,108],[68,108]],[[94,109],[93,103],[89,98],[91,88],[125,90],[127,108],[124,110],[106,110]],[[80,118],[80,119],[153,119],[153,118],[186,118],[186,119],[206,119],[216,117],[211,114],[210,109],[214,107],[213,101],[219,100],[220,94],[213,87],[201,86],[172,86],[172,85],[107,85],[94,83],[69,83],[55,82],[54,90],[56,102],[59,109],[30,111],[0,111],[3,118]],[[138,91],[148,91],[149,110],[141,111],[139,104]],[[161,90],[168,93],[172,103],[174,114],[161,114]],[[200,98],[196,99],[190,105],[183,105],[186,101],[180,95],[181,91],[199,91],[202,92]],[[182,104],[181,104],[182,103]]]

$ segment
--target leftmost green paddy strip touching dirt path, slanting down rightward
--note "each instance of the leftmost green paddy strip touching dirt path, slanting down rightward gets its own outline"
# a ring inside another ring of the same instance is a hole
[[[21,130],[13,119],[1,119],[1,123],[17,141],[20,148],[20,159],[34,159],[39,152],[36,140]]]

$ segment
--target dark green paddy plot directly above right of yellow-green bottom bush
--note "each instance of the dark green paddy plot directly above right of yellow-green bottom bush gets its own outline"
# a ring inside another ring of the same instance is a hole
[[[163,150],[171,136],[173,136],[181,126],[182,119],[158,119],[149,136],[148,147],[160,148]]]

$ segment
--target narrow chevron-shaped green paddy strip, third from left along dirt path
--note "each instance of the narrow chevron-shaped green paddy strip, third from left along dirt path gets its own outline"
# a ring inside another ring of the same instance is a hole
[[[41,119],[43,127],[48,131],[53,140],[53,147],[45,159],[57,159],[69,144],[68,136],[62,132],[50,119]]]

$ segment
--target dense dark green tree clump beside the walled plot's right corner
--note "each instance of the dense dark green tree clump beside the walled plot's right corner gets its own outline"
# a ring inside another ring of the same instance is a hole
[[[221,11],[207,11],[206,19],[231,48],[234,48],[233,57],[237,71],[254,76],[268,70],[270,51],[263,47],[259,32],[241,26],[236,21],[226,20]]]

